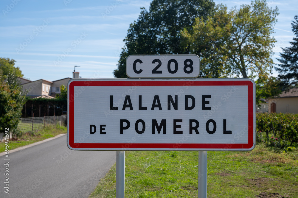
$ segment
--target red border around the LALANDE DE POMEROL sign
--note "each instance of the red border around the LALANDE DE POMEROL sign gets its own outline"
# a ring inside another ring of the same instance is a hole
[[[175,144],[152,144],[152,143],[132,143],[129,148],[126,148],[126,143],[74,143],[74,99],[75,86],[248,86],[248,144],[180,144],[177,149]],[[254,148],[254,83],[252,79],[220,79],[220,80],[204,80],[204,79],[189,79],[189,80],[148,80],[148,79],[97,79],[87,80],[80,79],[69,82],[68,85],[68,99],[69,110],[69,124],[68,124],[68,138],[67,142],[70,149],[74,150],[249,150]]]

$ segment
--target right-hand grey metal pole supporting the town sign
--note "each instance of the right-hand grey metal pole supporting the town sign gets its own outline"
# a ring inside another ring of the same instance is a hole
[[[198,198],[207,198],[207,151],[199,151]]]

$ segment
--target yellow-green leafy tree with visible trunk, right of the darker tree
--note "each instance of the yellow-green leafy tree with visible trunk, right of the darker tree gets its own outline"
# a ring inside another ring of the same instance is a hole
[[[278,9],[269,8],[264,0],[230,11],[221,4],[214,15],[207,20],[197,18],[193,28],[181,34],[186,48],[202,58],[202,76],[250,77],[264,82],[273,67],[276,40],[271,33],[277,15]]]

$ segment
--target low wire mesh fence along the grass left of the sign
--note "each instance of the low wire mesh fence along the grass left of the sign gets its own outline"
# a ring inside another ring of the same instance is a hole
[[[18,128],[22,132],[33,132],[41,130],[46,125],[64,124],[66,121],[66,115],[62,116],[44,116],[44,117],[32,117],[32,118],[20,118]]]

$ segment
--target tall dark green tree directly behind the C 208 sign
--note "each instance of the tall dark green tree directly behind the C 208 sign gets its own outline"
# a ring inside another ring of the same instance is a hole
[[[207,19],[214,8],[210,0],[153,0],[149,11],[141,8],[139,18],[130,25],[123,40],[125,46],[114,76],[127,78],[125,60],[131,54],[189,54],[187,48],[181,47],[181,29],[191,28],[197,17]]]

